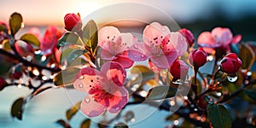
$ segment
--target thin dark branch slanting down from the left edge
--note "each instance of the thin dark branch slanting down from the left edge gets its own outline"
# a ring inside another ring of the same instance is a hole
[[[10,57],[12,59],[15,59],[16,61],[20,61],[21,63],[23,63],[24,66],[27,66],[27,67],[37,67],[38,70],[46,69],[46,70],[49,70],[49,71],[54,72],[54,73],[57,73],[57,72],[61,71],[60,68],[43,67],[43,66],[38,65],[36,63],[32,63],[30,61],[26,61],[23,58],[21,58],[20,56],[13,55],[13,54],[9,53],[8,51],[5,51],[4,49],[0,49],[0,54],[8,56],[8,57]]]

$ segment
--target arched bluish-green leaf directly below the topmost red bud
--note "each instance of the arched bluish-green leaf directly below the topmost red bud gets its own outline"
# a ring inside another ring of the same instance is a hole
[[[67,44],[78,44],[84,46],[81,38],[74,32],[66,32],[62,35],[62,37],[58,40],[57,49]]]

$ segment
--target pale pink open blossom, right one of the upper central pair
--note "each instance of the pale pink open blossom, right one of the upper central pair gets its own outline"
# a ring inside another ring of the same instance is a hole
[[[156,67],[169,68],[178,56],[188,47],[186,38],[180,32],[170,32],[167,26],[154,22],[146,26],[143,43],[134,44],[129,50],[133,61],[145,61],[148,58]]]

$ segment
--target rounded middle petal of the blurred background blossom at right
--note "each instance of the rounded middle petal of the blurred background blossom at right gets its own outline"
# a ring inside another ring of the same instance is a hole
[[[212,37],[216,44],[226,45],[231,43],[233,35],[229,28],[216,27],[212,30]]]

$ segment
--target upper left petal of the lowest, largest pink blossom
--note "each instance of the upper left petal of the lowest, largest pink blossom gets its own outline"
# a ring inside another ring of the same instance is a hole
[[[77,90],[89,92],[92,87],[102,83],[100,73],[91,67],[84,67],[80,70],[74,80],[73,86]]]

